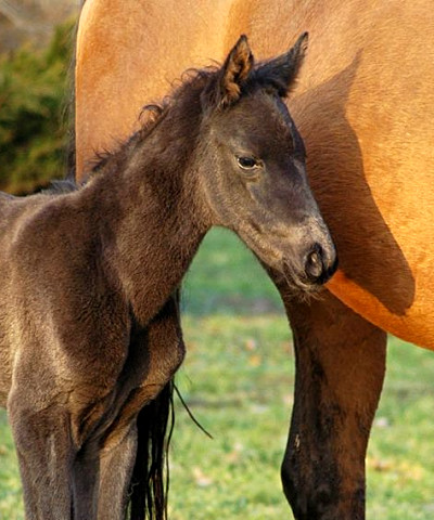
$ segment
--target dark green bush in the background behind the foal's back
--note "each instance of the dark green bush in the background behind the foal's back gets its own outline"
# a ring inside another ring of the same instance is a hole
[[[74,23],[47,49],[0,56],[0,190],[31,192],[63,177]]]

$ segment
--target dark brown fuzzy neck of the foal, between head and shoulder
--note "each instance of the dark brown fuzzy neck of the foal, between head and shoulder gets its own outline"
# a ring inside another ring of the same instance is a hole
[[[199,120],[179,117],[169,113],[143,142],[132,139],[89,185],[103,214],[105,260],[143,325],[180,284],[209,229],[194,196]]]

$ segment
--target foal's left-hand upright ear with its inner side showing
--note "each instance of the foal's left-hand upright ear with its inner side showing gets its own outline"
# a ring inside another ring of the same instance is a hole
[[[242,84],[248,78],[253,63],[247,37],[242,35],[219,70],[215,92],[217,106],[229,106],[240,99]]]

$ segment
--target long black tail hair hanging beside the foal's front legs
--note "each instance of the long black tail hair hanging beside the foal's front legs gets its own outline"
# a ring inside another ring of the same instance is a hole
[[[174,381],[137,418],[138,447],[130,483],[129,520],[167,520],[167,451],[174,428]]]

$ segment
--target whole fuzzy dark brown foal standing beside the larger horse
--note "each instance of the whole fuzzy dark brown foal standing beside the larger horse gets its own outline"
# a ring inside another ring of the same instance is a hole
[[[1,195],[0,404],[28,520],[123,520],[130,496],[141,519],[137,489],[163,518],[157,437],[184,350],[174,292],[212,225],[306,289],[333,273],[281,100],[305,48],[303,35],[254,67],[241,37],[221,68],[186,80],[82,187]]]

